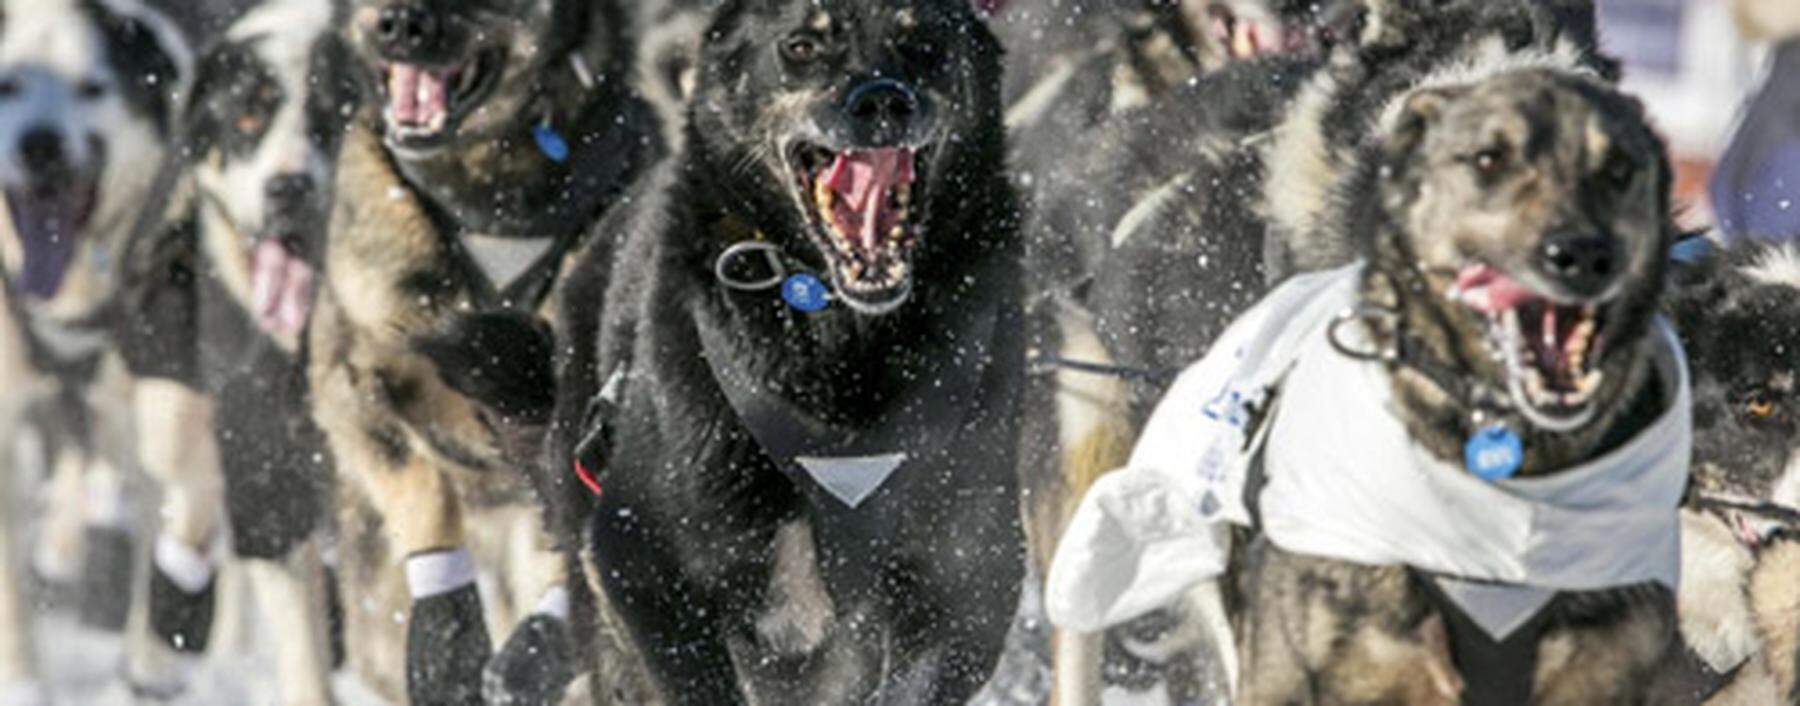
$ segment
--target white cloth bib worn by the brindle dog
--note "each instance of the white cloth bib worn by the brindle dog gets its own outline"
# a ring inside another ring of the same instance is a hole
[[[1355,303],[1359,274],[1291,279],[1183,373],[1130,463],[1094,483],[1069,522],[1049,569],[1051,621],[1105,629],[1220,576],[1228,522],[1251,524],[1244,483],[1258,456],[1269,540],[1454,576],[1438,584],[1496,639],[1559,591],[1676,587],[1692,418],[1687,360],[1667,322],[1656,319],[1652,335],[1672,403],[1649,429],[1577,468],[1487,483],[1413,443],[1382,366],[1327,340]],[[1274,387],[1271,423],[1246,439],[1247,409]]]

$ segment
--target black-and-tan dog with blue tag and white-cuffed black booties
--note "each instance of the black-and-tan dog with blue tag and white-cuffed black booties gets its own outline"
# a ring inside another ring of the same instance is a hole
[[[659,157],[623,5],[355,0],[338,18],[364,101],[338,153],[308,391],[351,504],[405,564],[412,702],[554,701],[574,675],[580,620],[527,474],[472,380],[430,351],[470,313],[545,313],[587,227]],[[495,542],[506,564],[482,562],[509,567],[482,596],[472,551]],[[497,621],[517,625],[500,648],[484,598],[518,616]]]

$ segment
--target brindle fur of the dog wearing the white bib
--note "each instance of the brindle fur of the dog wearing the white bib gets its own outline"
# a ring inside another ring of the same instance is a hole
[[[1438,295],[1449,290],[1445,272],[1454,276],[1465,258],[1521,272],[1530,265],[1519,254],[1541,247],[1539,238],[1559,232],[1564,218],[1604,223],[1597,232],[1620,241],[1620,261],[1609,270],[1616,299],[1604,304],[1611,344],[1597,367],[1604,371],[1591,402],[1598,414],[1562,434],[1516,420],[1526,447],[1521,475],[1555,474],[1642,429],[1667,403],[1649,393],[1656,384],[1645,371],[1645,331],[1676,232],[1670,169],[1642,106],[1579,63],[1499,63],[1463,72],[1458,83],[1422,83],[1381,113],[1379,139],[1361,151],[1357,176],[1334,187],[1334,202],[1346,205],[1325,213],[1366,256],[1363,299],[1397,312],[1393,322],[1373,326],[1377,340],[1411,330],[1435,360],[1456,360],[1460,375],[1505,380],[1480,348],[1474,315],[1456,313],[1462,304]],[[1537,148],[1526,151],[1526,140]],[[1480,176],[1458,176],[1474,171],[1460,160],[1469,149],[1510,157]],[[1418,189],[1426,182],[1435,187]],[[1408,366],[1390,369],[1397,414],[1413,439],[1436,457],[1460,457],[1472,432],[1462,402]],[[1456,670],[1444,645],[1454,627],[1436,616],[1418,573],[1289,555],[1267,542],[1251,544],[1235,566],[1244,702],[1496,699],[1480,686],[1490,674]],[[1546,612],[1532,702],[1647,699],[1674,630],[1670,591],[1564,593]]]

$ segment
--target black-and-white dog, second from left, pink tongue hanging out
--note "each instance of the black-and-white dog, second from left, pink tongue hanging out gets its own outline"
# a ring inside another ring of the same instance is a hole
[[[230,537],[263,623],[288,636],[275,643],[281,702],[331,701],[329,593],[311,544],[331,470],[306,414],[299,337],[356,104],[347,68],[329,4],[270,0],[230,23],[200,58],[178,121],[180,155],[162,186],[171,205],[153,205],[167,220],[139,236],[193,272],[162,279],[189,292],[162,295],[193,303],[193,362],[176,382],[212,402],[218,457],[162,477],[148,627],[169,654],[133,654],[130,677],[146,693],[178,693],[193,661],[180,657],[207,652],[214,546]]]

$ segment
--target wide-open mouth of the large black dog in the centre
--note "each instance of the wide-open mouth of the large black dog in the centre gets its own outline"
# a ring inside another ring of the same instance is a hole
[[[788,164],[806,225],[844,303],[864,313],[886,313],[905,303],[918,243],[913,218],[918,151],[797,146]]]

